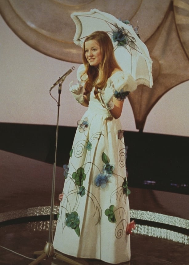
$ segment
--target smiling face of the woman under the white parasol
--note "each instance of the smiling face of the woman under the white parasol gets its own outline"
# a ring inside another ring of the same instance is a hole
[[[96,40],[85,42],[85,57],[91,66],[98,66],[102,61],[101,49]]]

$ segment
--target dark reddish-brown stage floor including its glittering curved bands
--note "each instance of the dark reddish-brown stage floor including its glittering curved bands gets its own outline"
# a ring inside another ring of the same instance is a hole
[[[34,251],[43,250],[48,241],[53,165],[1,150],[0,164],[0,264],[30,264]],[[63,183],[62,168],[56,167],[56,209]],[[131,218],[137,227],[131,235],[131,261],[125,264],[188,265],[189,196],[130,189]],[[107,264],[74,260],[81,264]],[[41,264],[68,263],[49,258]]]

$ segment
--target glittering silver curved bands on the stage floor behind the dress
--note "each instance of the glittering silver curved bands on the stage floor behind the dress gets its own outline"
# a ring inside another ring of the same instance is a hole
[[[53,214],[58,213],[58,208],[59,208],[58,205],[54,206]],[[50,206],[40,206],[40,207],[33,207],[28,209],[21,209],[16,211],[0,213],[0,222],[9,221],[12,219],[18,219],[22,217],[34,217],[34,216],[43,216],[43,215],[50,215]],[[130,215],[132,219],[152,221],[165,225],[167,224],[184,229],[189,229],[189,220],[175,216],[169,216],[157,212],[147,212],[147,211],[140,211],[134,209],[130,210]],[[55,225],[56,225],[56,220],[53,221],[53,226],[55,227]],[[28,222],[28,226],[38,231],[44,229],[49,230],[49,221]],[[183,233],[171,231],[169,229],[137,224],[135,230],[133,230],[133,233],[153,236],[156,238],[168,239],[174,242],[179,242],[185,245],[189,245],[189,236]]]

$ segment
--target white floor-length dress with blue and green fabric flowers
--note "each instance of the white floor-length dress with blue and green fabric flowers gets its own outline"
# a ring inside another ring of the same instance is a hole
[[[126,90],[136,88],[131,76],[125,77],[122,71],[113,74],[107,86],[110,82],[118,99]],[[119,119],[94,97],[94,90],[78,121],[65,172],[54,249],[114,264],[130,260],[130,235],[125,232],[130,213],[123,131]]]

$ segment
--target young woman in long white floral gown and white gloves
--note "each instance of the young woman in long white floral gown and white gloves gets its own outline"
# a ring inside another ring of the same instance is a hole
[[[78,121],[65,169],[53,246],[75,257],[126,262],[130,214],[119,117],[124,98],[137,85],[120,69],[112,41],[102,31],[86,38],[77,77],[70,91],[88,109]]]

